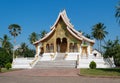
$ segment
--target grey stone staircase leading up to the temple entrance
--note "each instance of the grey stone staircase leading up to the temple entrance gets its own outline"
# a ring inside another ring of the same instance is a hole
[[[55,60],[38,61],[34,68],[49,69],[49,68],[75,68],[75,60],[64,60],[64,53],[58,53]]]

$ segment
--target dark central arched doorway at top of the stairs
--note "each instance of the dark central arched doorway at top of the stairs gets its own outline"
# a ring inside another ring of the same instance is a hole
[[[64,53],[67,50],[67,39],[66,38],[57,38],[56,39],[57,52]]]

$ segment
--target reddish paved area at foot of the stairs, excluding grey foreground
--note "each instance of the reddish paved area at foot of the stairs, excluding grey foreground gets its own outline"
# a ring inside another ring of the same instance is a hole
[[[0,76],[78,76],[79,69],[26,69],[7,73]]]

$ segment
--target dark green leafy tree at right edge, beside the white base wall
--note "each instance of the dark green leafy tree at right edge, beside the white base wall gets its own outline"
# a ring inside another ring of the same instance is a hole
[[[104,58],[113,57],[116,66],[120,67],[120,42],[118,39],[115,41],[108,40],[104,46]]]

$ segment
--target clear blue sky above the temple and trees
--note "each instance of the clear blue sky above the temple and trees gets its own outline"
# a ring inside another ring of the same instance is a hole
[[[66,10],[76,30],[91,34],[93,25],[101,22],[109,34],[106,40],[120,37],[120,25],[116,22],[115,7],[119,0],[0,0],[0,37],[9,35],[10,24],[19,24],[21,34],[17,44],[29,44],[32,32],[50,31],[58,14]]]

